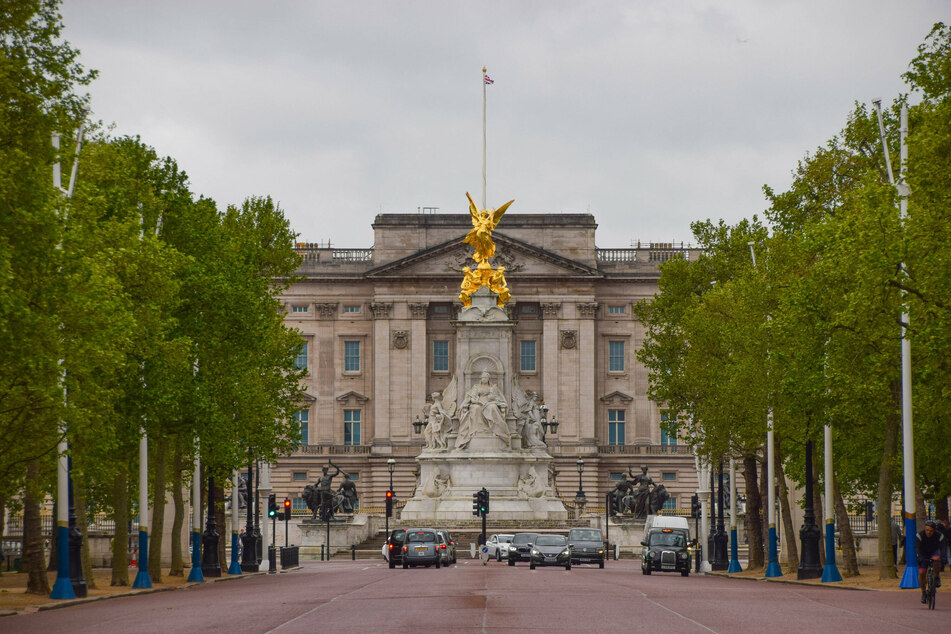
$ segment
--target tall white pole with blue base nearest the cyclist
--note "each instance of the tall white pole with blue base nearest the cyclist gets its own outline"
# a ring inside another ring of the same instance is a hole
[[[891,159],[888,154],[888,143],[885,142],[885,123],[882,121],[882,101],[876,99],[872,102],[878,113],[878,131],[882,140],[882,150],[885,153],[885,167],[888,171],[888,182],[894,185],[898,190],[898,216],[902,222],[904,230],[905,216],[908,213],[908,194],[911,189],[905,182],[905,166],[908,162],[908,107],[902,105],[899,119],[899,143],[900,159],[898,166],[898,182],[895,182],[892,175]],[[906,275],[904,263],[901,271]],[[901,314],[901,438],[902,438],[902,467],[904,469],[904,487],[905,487],[905,572],[902,574],[899,588],[917,588],[918,569],[914,557],[909,557],[908,553],[915,552],[915,537],[918,534],[915,525],[915,446],[914,436],[912,435],[912,408],[911,408],[911,340],[908,338],[908,325],[910,318],[908,306],[905,304],[905,291],[901,291],[902,296],[902,314]],[[890,503],[890,500],[889,500]],[[889,504],[890,506],[890,504]],[[891,508],[888,509],[888,515],[891,517]]]

